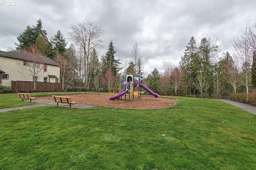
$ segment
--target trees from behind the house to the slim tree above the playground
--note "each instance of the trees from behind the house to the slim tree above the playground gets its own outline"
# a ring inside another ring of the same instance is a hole
[[[72,78],[84,78],[78,81],[78,86],[87,87],[88,79],[92,78],[97,88],[113,89],[124,77],[124,72],[143,74],[143,63],[138,43],[134,44],[131,53],[131,61],[128,68],[120,73],[120,60],[115,57],[114,43],[111,40],[108,51],[99,56],[104,48],[101,40],[101,27],[91,21],[71,23],[68,39],[71,44],[67,48],[67,42],[60,30],[48,39],[46,30],[42,29],[42,20],[38,20],[36,26],[30,27],[17,37],[19,43],[15,43],[17,50],[29,51],[36,48],[38,55],[44,55],[56,61],[60,66],[60,82],[70,82]],[[31,46],[32,45],[32,46]]]

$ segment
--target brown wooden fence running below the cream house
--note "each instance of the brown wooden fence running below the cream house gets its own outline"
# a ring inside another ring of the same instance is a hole
[[[62,92],[61,83],[37,82],[34,90],[33,82],[12,81],[12,92]]]

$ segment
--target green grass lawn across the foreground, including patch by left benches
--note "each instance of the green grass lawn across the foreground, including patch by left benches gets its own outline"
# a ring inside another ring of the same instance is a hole
[[[6,106],[22,103],[15,98],[0,94]],[[155,110],[44,106],[0,113],[0,169],[256,169],[256,115],[218,100],[178,100]]]

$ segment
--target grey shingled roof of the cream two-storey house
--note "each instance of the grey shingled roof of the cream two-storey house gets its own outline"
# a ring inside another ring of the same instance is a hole
[[[26,54],[26,52],[18,51],[18,50],[8,51],[8,52],[0,51],[0,56],[12,58],[12,59],[18,59],[18,60],[24,60],[24,54]],[[37,55],[37,57],[40,58],[40,61],[44,61],[45,64],[58,66],[58,64],[55,61],[49,59],[48,57],[45,57],[42,55]]]

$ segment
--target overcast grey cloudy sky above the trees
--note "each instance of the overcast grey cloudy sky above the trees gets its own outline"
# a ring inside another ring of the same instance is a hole
[[[144,73],[178,66],[192,36],[218,38],[220,53],[232,53],[241,31],[256,21],[256,0],[0,0],[0,50],[16,47],[27,25],[42,20],[47,37],[58,30],[66,38],[70,23],[94,22],[102,28],[105,54],[110,41],[123,67],[130,62],[137,42]]]

